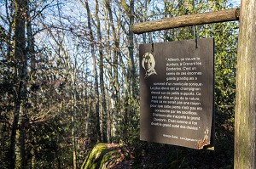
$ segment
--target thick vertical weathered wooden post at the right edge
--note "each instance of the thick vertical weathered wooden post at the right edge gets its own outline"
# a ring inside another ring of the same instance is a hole
[[[241,1],[235,120],[234,168],[256,168],[256,0]]]

